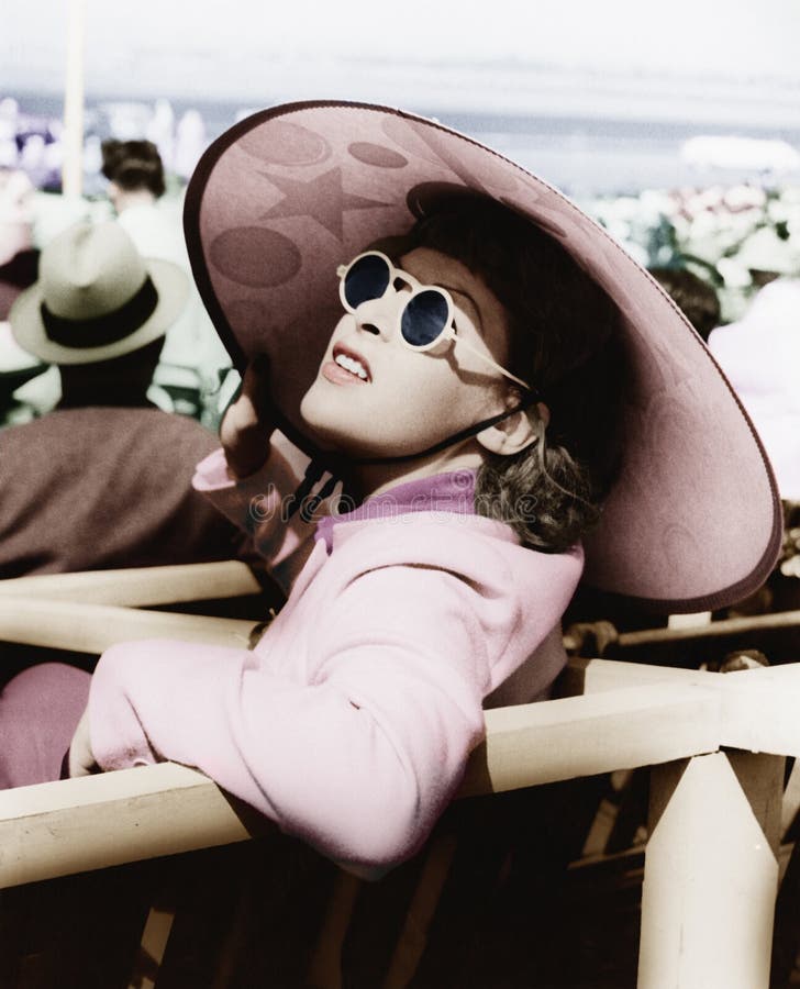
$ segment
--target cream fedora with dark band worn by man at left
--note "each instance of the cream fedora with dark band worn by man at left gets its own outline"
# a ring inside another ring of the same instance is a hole
[[[95,364],[163,336],[188,296],[187,275],[143,258],[119,223],[81,221],[44,247],[38,280],[9,322],[20,346],[42,360]]]

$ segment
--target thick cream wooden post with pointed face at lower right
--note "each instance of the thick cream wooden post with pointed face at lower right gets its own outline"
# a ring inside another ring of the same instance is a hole
[[[782,780],[743,752],[654,768],[638,989],[767,989]]]

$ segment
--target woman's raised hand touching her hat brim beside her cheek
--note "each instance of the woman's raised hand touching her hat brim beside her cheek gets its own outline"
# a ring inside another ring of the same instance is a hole
[[[232,477],[247,477],[264,466],[274,430],[269,362],[262,355],[247,365],[240,395],[227,407],[220,425],[220,441]]]

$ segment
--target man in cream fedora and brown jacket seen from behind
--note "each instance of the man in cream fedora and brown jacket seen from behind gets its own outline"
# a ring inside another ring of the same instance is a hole
[[[0,432],[0,578],[229,559],[244,542],[191,489],[214,436],[147,399],[189,286],[115,222],[44,247],[11,308],[19,346],[58,367],[62,399]]]

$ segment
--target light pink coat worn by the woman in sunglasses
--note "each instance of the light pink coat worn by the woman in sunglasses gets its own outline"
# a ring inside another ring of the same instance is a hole
[[[304,565],[253,651],[109,649],[89,701],[99,764],[196,766],[357,871],[413,855],[482,738],[487,699],[530,700],[562,668],[559,620],[582,566],[580,548],[524,548],[471,504],[442,511],[451,477],[463,476],[433,479],[427,503],[402,486],[385,511],[342,516],[329,546],[281,521],[296,479],[277,453],[237,485],[220,452],[207,458],[196,485],[232,516],[262,494],[257,543],[285,578],[292,558]]]

